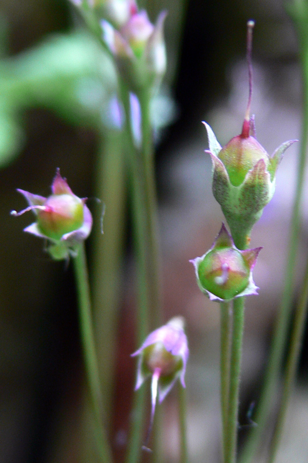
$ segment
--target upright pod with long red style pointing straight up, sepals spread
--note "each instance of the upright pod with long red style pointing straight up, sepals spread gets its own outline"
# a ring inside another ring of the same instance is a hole
[[[232,138],[223,148],[204,122],[213,164],[213,194],[221,205],[235,243],[247,247],[253,225],[260,219],[263,208],[275,191],[275,176],[285,150],[294,141],[283,143],[270,157],[255,137],[254,118],[249,118],[252,100],[252,29],[247,23],[247,59],[249,98],[242,133]],[[244,237],[244,240],[243,240]]]

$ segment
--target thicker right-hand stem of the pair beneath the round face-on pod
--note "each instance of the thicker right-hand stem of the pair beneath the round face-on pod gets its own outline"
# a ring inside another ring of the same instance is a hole
[[[233,333],[230,360],[229,407],[227,435],[224,446],[226,452],[224,463],[235,463],[236,461],[239,385],[244,332],[244,304],[245,297],[238,297],[233,301]]]

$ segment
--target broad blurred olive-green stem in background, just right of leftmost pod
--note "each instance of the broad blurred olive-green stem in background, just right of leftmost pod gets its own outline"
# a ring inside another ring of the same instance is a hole
[[[97,217],[97,225],[93,227],[92,300],[100,377],[104,390],[103,405],[106,424],[109,425],[121,297],[126,177],[122,133],[109,129],[101,139],[95,172],[95,194],[106,205],[106,214],[103,220],[104,235],[99,226],[101,217]],[[101,207],[97,211],[101,213]]]

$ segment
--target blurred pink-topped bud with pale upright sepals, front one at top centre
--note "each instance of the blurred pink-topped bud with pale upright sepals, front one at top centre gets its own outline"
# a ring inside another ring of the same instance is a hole
[[[103,38],[117,62],[119,72],[135,93],[155,85],[165,73],[165,17],[166,12],[161,12],[154,26],[146,11],[140,11],[131,15],[119,30],[107,21],[101,23]]]

